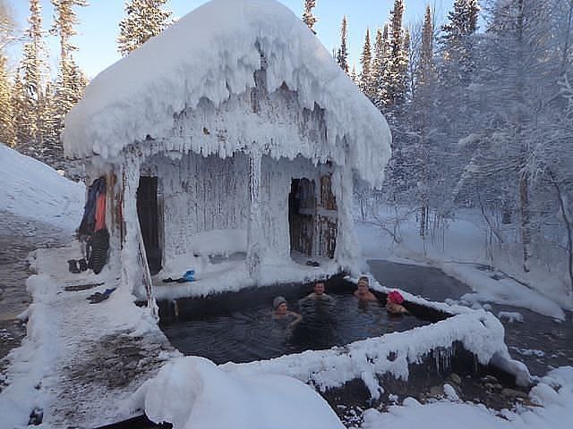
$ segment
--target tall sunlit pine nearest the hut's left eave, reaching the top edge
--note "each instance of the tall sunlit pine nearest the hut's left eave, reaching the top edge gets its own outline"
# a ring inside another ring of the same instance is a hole
[[[54,25],[50,32],[60,38],[60,61],[56,80],[56,94],[54,104],[56,112],[46,113],[53,115],[56,122],[56,131],[59,136],[64,129],[64,117],[83,97],[87,84],[86,78],[73,60],[73,53],[78,50],[72,43],[76,34],[74,26],[79,22],[74,11],[76,6],[87,6],[87,0],[51,0],[54,6]],[[64,147],[56,141],[50,146],[45,145],[47,162],[53,166],[62,166],[64,160]]]

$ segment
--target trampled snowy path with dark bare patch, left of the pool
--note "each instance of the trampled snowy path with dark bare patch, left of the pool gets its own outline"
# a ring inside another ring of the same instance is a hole
[[[78,252],[76,245],[36,252],[28,336],[12,352],[9,385],[0,393],[0,414],[13,419],[6,427],[26,425],[32,408],[43,410],[47,427],[98,427],[141,414],[124,400],[178,356],[133,297],[117,290],[98,304],[86,300],[114,287],[112,270],[105,284],[75,290],[102,282],[62,269]]]

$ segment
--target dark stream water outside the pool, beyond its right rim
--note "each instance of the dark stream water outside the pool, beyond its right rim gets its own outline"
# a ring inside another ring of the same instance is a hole
[[[385,286],[407,290],[423,298],[443,301],[460,299],[472,290],[466,284],[437,268],[395,264],[388,261],[368,261],[372,274]],[[492,273],[493,274],[493,273]],[[526,364],[531,374],[544,375],[558,366],[573,366],[573,320],[567,313],[565,322],[538,315],[525,308],[492,304],[492,313],[517,312],[523,323],[509,323],[505,327],[505,341],[511,357]]]

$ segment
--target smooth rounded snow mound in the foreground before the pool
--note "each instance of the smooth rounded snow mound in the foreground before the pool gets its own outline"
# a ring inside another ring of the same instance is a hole
[[[291,377],[231,374],[203,357],[180,357],[135,394],[151,421],[174,429],[343,429],[318,393]]]

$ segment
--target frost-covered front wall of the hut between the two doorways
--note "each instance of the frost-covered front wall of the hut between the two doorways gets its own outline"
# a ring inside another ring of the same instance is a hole
[[[141,175],[158,177],[164,260],[201,253],[206,231],[246,231],[250,210],[247,162],[241,153],[227,158],[190,153],[175,157],[158,154],[141,165]],[[262,156],[258,207],[264,257],[290,257],[288,196],[293,179],[320,183],[321,174],[335,170],[300,157],[276,160]],[[224,234],[221,231],[219,237]]]

